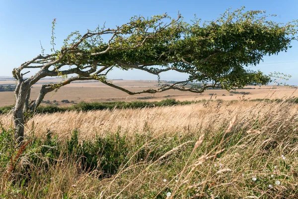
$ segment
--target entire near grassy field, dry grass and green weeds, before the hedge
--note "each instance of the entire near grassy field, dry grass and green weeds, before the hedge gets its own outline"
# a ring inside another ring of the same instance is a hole
[[[297,103],[36,114],[21,149],[0,123],[1,198],[298,198]]]

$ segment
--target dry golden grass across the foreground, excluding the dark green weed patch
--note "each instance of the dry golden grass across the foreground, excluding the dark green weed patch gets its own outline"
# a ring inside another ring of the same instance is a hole
[[[10,117],[0,116],[4,128],[9,127]],[[298,106],[294,103],[207,101],[38,114],[28,122],[27,134],[32,133],[32,126],[36,136],[51,130],[61,139],[74,128],[79,130],[80,140],[94,139],[95,134],[105,136],[119,128],[132,145],[136,134],[150,139],[135,146],[129,161],[105,179],[100,178],[100,169],[80,171],[80,163],[72,159],[60,160],[47,171],[32,168],[28,198],[42,196],[45,188],[44,198],[298,198]],[[174,137],[178,142],[169,147]],[[144,148],[167,150],[155,159],[135,161]],[[1,192],[20,196],[11,194],[12,184],[2,179]]]

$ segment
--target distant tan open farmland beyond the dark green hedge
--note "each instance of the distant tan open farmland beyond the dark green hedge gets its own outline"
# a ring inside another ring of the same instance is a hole
[[[11,79],[0,79],[0,85],[4,84],[14,84]],[[5,81],[4,81],[5,80]],[[59,82],[59,79],[44,79],[34,85],[31,89],[31,100],[35,100],[39,94],[39,90],[42,84],[45,83],[55,83]],[[124,87],[130,91],[142,91],[149,88],[157,88],[157,81],[132,81],[132,80],[112,80],[112,82],[118,86]],[[298,96],[296,87],[284,87],[284,86],[247,86],[245,89],[236,90],[236,92],[250,93],[245,96],[245,99],[282,99],[285,97],[295,97]],[[76,82],[67,85],[59,89],[56,93],[52,92],[46,95],[44,101],[49,100],[53,103],[56,100],[59,106],[69,106],[70,103],[62,103],[61,100],[69,100],[74,103],[80,101],[94,102],[94,101],[134,101],[134,100],[147,100],[147,101],[158,101],[164,100],[166,98],[176,99],[176,100],[238,100],[243,97],[243,94],[233,94],[225,90],[207,90],[202,94],[195,94],[191,92],[181,92],[181,91],[166,91],[157,94],[141,94],[130,96],[125,92],[119,91],[117,89],[108,87],[100,82]],[[14,101],[13,92],[0,92],[0,106],[12,105]],[[43,103],[42,105],[46,105]]]

